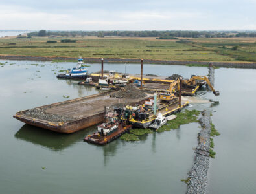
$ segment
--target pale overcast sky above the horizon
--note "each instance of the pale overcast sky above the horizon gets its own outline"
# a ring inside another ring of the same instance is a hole
[[[256,30],[256,0],[0,0],[0,30]]]

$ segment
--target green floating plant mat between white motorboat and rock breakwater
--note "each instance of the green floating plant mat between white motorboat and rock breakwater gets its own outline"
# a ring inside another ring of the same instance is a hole
[[[197,110],[185,110],[183,112],[176,113],[174,115],[177,115],[177,118],[167,121],[167,124],[160,127],[157,132],[161,133],[163,131],[170,131],[171,129],[178,129],[180,125],[198,122],[198,115],[200,113],[201,112]]]

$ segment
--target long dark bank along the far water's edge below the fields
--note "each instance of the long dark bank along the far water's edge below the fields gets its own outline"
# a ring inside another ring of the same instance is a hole
[[[76,60],[77,58],[59,57],[59,56],[18,56],[18,55],[0,55],[0,59],[6,60],[32,60],[32,61],[52,61],[52,60]],[[101,58],[83,58],[86,62],[99,63]],[[108,63],[141,63],[141,59],[119,59],[119,58],[104,58]],[[144,59],[144,63],[155,63],[165,65],[186,65],[198,64],[208,65],[209,61],[165,61]],[[252,68],[256,69],[256,63],[222,63],[212,62],[216,67],[235,67],[235,68]]]

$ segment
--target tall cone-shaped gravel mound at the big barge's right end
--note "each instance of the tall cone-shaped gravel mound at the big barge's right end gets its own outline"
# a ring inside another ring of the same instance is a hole
[[[128,84],[119,91],[112,93],[110,96],[115,98],[137,99],[145,98],[147,95],[145,94],[145,92],[137,89],[134,85]]]

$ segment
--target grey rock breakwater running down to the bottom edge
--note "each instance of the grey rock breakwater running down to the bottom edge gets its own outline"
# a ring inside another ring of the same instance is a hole
[[[210,111],[202,111],[200,124],[202,130],[198,133],[198,146],[196,156],[191,171],[189,171],[189,182],[186,193],[206,193],[207,192],[207,170],[209,169],[209,149],[211,133]]]

